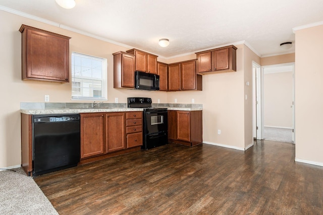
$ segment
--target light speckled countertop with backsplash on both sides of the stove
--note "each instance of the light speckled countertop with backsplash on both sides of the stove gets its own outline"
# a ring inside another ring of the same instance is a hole
[[[90,108],[90,104],[91,103],[21,103],[20,112],[24,114],[62,114],[143,111],[143,108],[127,108],[127,104],[124,103],[103,103],[95,108]],[[154,104],[153,107],[182,111],[203,110],[203,105],[199,104]]]

